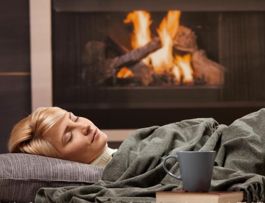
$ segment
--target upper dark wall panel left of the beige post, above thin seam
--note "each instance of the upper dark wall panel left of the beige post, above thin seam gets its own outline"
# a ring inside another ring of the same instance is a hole
[[[2,0],[0,4],[0,71],[29,72],[29,0]]]

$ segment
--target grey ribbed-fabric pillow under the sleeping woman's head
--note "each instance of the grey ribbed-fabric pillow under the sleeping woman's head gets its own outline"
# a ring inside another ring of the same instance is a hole
[[[0,154],[0,202],[34,202],[42,187],[91,185],[103,168],[38,155]]]

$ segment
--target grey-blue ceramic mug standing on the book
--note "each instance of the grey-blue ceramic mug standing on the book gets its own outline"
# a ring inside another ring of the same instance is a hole
[[[180,151],[165,157],[163,166],[172,177],[182,180],[187,192],[208,192],[215,164],[216,151]],[[176,176],[166,167],[166,161],[175,158],[179,163],[180,175]]]

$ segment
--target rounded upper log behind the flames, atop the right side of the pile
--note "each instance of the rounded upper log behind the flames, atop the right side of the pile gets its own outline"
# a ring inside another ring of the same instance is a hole
[[[194,52],[198,49],[195,33],[188,27],[179,25],[174,38],[174,47],[180,51]]]

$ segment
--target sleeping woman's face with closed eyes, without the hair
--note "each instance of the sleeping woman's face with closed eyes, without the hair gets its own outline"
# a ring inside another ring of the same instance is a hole
[[[49,138],[60,155],[70,161],[90,163],[103,151],[108,137],[90,120],[66,112],[44,137]]]

